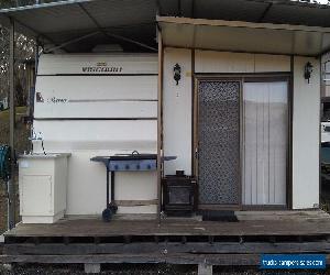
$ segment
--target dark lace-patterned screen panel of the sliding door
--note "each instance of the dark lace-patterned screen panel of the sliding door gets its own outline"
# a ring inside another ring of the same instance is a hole
[[[199,204],[240,204],[240,81],[200,81]]]

